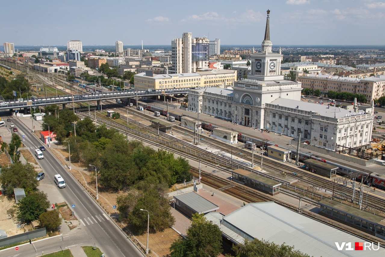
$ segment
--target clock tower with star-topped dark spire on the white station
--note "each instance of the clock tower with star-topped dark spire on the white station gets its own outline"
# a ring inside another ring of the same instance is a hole
[[[281,72],[281,62],[283,55],[271,52],[272,43],[270,41],[270,10],[267,10],[266,30],[262,41],[261,52],[250,55],[251,74],[249,79],[260,81],[283,80]]]

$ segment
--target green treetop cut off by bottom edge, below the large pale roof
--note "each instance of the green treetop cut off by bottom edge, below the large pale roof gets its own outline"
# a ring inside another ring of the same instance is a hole
[[[294,250],[293,246],[278,245],[274,242],[258,239],[246,240],[243,244],[233,245],[233,251],[236,257],[310,257],[298,250]]]

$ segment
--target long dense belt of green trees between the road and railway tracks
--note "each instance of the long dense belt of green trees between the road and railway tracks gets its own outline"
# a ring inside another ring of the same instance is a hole
[[[54,106],[49,109],[54,109]],[[100,191],[127,191],[117,200],[121,219],[137,232],[144,232],[147,213],[140,209],[146,209],[151,215],[151,231],[174,224],[166,193],[171,185],[190,179],[188,162],[181,157],[175,158],[173,153],[144,146],[139,141],[127,141],[124,135],[105,125],[95,128],[90,118],[77,121],[76,140],[74,136],[66,138],[65,135],[74,135],[74,128],[67,124],[77,120],[70,112],[64,109],[58,111],[58,115],[45,115],[44,123],[48,123],[55,133],[59,131],[60,141],[69,141],[73,162],[97,167]],[[54,111],[51,113],[55,114]]]

